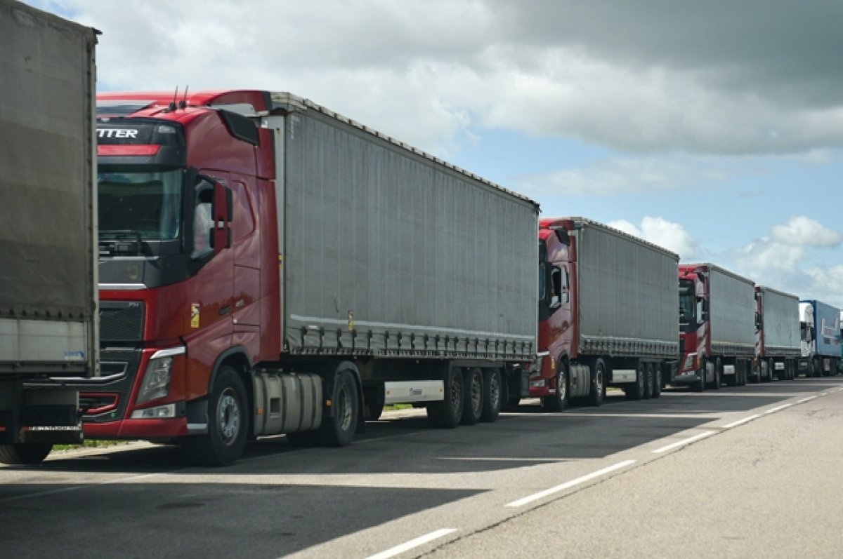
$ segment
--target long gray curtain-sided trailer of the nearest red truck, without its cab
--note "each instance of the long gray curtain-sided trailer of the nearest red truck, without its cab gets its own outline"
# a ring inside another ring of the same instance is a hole
[[[536,354],[539,206],[307,99],[271,99],[287,361],[353,361],[368,419],[395,403],[438,426],[497,418]]]

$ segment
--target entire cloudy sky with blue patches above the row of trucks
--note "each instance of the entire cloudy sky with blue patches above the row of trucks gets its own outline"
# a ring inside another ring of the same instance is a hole
[[[843,307],[843,3],[27,0],[99,89],[289,91],[540,202]]]

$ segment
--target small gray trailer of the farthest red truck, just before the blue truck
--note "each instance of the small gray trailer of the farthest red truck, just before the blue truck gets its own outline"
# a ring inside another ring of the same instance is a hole
[[[799,298],[756,285],[755,301],[755,375],[760,380],[791,381],[802,354]]]

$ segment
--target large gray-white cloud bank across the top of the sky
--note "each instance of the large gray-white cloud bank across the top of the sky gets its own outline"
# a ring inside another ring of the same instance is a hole
[[[291,91],[442,156],[477,125],[634,152],[843,145],[834,3],[30,2],[103,32],[100,88]]]

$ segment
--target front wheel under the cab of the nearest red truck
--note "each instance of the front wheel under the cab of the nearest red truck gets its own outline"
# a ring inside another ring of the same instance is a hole
[[[202,466],[228,466],[243,453],[249,434],[249,413],[243,379],[233,367],[219,368],[208,397],[208,432],[185,437],[191,461]]]

